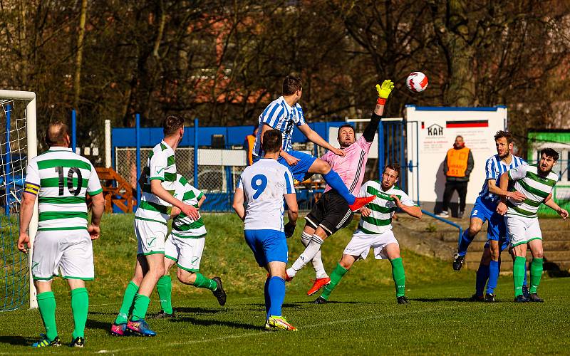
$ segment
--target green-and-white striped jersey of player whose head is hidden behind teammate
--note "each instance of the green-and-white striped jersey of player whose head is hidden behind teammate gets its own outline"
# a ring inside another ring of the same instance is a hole
[[[174,197],[181,200],[184,204],[192,205],[198,209],[198,201],[204,197],[204,194],[188,183],[187,179],[182,177],[181,174],[177,174],[176,177],[178,179],[175,183],[176,191]],[[182,238],[196,239],[203,237],[206,235],[206,226],[204,226],[202,216],[194,220],[184,213],[178,214],[172,220],[172,234]]]

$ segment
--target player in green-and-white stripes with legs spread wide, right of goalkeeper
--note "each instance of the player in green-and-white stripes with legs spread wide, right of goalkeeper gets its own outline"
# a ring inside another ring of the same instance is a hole
[[[371,248],[374,249],[376,259],[388,258],[392,264],[392,277],[396,290],[398,304],[407,304],[405,298],[405,273],[400,246],[392,232],[392,216],[396,209],[402,209],[406,214],[418,219],[422,217],[422,210],[415,205],[395,184],[400,177],[400,165],[388,164],[382,175],[382,182],[368,181],[362,187],[358,197],[373,197],[375,199],[361,209],[362,218],[358,229],[343,251],[341,261],[337,263],[331,273],[331,283],[324,287],[323,293],[314,303],[323,304],[336,287],[341,278],[359,259],[365,259]]]

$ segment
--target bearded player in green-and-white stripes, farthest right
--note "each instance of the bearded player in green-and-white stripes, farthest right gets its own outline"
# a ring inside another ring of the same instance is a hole
[[[514,282],[514,301],[543,302],[537,294],[542,276],[542,233],[540,231],[537,211],[540,204],[545,204],[558,213],[562,219],[568,217],[568,211],[562,209],[552,199],[552,189],[558,181],[558,174],[552,172],[552,167],[558,161],[558,152],[551,148],[540,151],[538,164],[521,165],[509,169],[501,175],[500,187],[506,191],[509,182],[514,181],[512,191],[524,194],[523,201],[512,198],[503,198],[497,206],[497,212],[504,215],[507,225],[507,234],[510,240],[511,251],[514,257],[512,276]],[[530,263],[530,290],[529,298],[522,293],[524,279],[524,264],[527,259],[527,246],[532,253]]]

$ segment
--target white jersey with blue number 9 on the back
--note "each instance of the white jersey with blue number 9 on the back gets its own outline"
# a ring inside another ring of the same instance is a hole
[[[244,169],[237,187],[244,189],[245,230],[283,231],[283,194],[295,193],[289,169],[276,159],[259,159]]]

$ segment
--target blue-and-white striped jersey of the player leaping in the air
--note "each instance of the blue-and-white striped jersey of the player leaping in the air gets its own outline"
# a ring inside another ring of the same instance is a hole
[[[283,150],[291,151],[293,149],[291,146],[293,129],[295,125],[301,126],[305,125],[305,123],[305,115],[299,103],[296,103],[295,106],[291,108],[282,96],[280,96],[279,99],[273,100],[271,104],[267,105],[267,108],[261,112],[261,115],[259,115],[259,131],[255,137],[253,155],[258,157],[263,156],[263,149],[261,148],[261,132],[263,132],[263,130],[261,130],[261,127],[263,127],[264,124],[281,131],[283,134]]]

